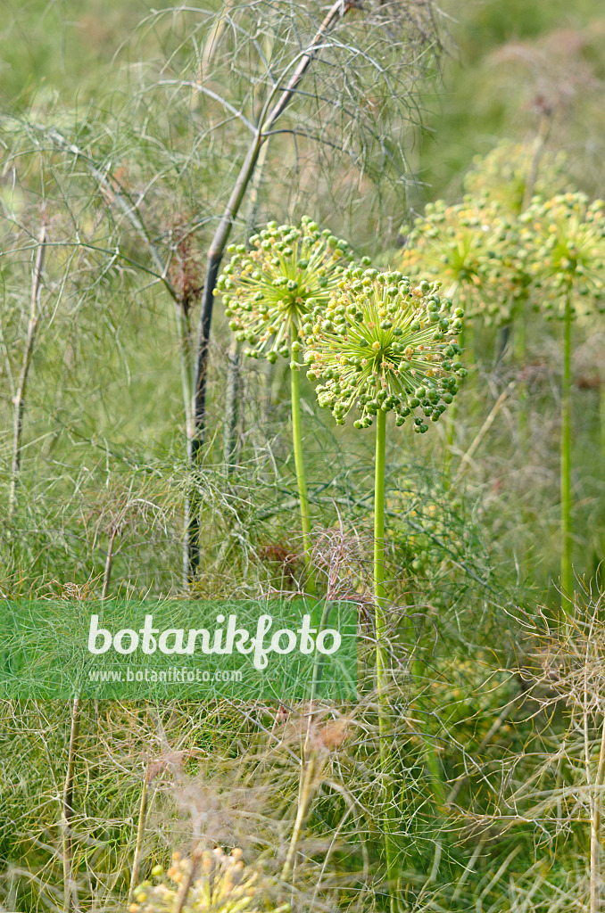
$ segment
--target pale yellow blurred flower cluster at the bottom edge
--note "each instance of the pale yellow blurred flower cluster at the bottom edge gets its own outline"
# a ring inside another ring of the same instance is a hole
[[[191,878],[191,866],[199,866],[199,874],[191,879],[183,906],[182,893]],[[152,875],[162,880],[154,885],[143,881],[136,888],[135,903],[130,913],[253,913],[256,873],[246,869],[241,861],[241,850],[231,855],[221,849],[204,852],[199,859],[183,859],[173,854],[172,866],[164,875],[162,866],[155,866]]]

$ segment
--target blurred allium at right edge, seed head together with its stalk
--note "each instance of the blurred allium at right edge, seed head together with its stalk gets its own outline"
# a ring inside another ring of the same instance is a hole
[[[605,203],[585,194],[536,199],[521,216],[528,228],[532,271],[540,307],[563,320],[561,392],[561,589],[568,612],[573,590],[571,565],[571,325],[578,310],[605,310]]]

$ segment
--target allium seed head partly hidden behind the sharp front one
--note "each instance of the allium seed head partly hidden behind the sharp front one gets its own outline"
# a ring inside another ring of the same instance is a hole
[[[231,260],[217,289],[231,330],[249,343],[244,353],[275,362],[278,353],[290,354],[292,331],[298,331],[309,309],[327,306],[353,257],[346,241],[327,228],[320,231],[306,215],[300,226],[270,222],[250,238],[250,247],[228,247]]]

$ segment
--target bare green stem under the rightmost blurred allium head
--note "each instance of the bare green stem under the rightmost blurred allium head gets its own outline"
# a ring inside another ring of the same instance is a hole
[[[561,608],[571,609],[571,296],[563,321],[563,384],[561,389]]]

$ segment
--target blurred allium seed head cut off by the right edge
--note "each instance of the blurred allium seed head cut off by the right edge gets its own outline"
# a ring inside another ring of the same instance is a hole
[[[520,220],[547,316],[562,315],[564,292],[573,293],[574,310],[605,311],[605,203],[579,193],[536,198]]]

